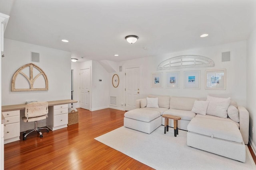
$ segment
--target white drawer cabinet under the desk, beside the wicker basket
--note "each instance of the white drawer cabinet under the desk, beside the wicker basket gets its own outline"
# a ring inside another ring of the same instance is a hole
[[[52,131],[67,127],[68,125],[68,104],[49,106],[46,126]]]

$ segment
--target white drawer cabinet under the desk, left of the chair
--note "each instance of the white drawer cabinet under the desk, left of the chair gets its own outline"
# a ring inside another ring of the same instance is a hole
[[[2,112],[4,123],[4,144],[20,140],[20,110]]]

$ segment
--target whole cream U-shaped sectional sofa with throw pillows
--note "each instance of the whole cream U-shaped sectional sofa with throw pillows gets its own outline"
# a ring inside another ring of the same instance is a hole
[[[152,105],[158,100],[158,106]],[[196,101],[196,102],[195,102]],[[124,114],[124,127],[151,133],[164,125],[163,114],[180,116],[178,128],[188,131],[187,144],[245,162],[249,113],[230,98],[148,96],[136,100],[136,109]],[[170,121],[173,127],[173,121]]]

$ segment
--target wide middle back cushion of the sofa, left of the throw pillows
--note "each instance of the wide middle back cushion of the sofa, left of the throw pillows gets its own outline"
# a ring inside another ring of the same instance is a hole
[[[191,111],[196,98],[182,98],[182,97],[171,97],[170,98],[170,109],[180,109]]]

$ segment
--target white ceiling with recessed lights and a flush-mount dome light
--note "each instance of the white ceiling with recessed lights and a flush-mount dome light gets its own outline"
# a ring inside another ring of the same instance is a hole
[[[10,15],[5,38],[70,51],[78,62],[246,40],[255,11],[256,0],[0,0],[0,12]],[[139,39],[129,44],[126,35]]]

